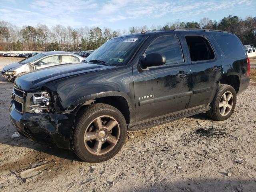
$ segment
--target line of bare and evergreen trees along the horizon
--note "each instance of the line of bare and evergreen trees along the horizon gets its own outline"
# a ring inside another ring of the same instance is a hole
[[[238,16],[224,17],[217,22],[209,18],[202,18],[199,22],[167,23],[164,26],[132,26],[128,30],[111,30],[87,26],[72,28],[71,26],[56,25],[49,28],[45,24],[37,26],[23,26],[22,28],[10,22],[0,21],[0,51],[79,51],[95,50],[108,40],[121,35],[156,30],[174,30],[176,28],[206,28],[225,30],[236,34],[243,44],[256,45],[256,17]]]

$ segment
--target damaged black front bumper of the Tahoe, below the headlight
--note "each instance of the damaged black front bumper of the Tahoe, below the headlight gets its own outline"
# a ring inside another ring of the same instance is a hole
[[[10,120],[16,130],[31,141],[56,144],[70,149],[75,113],[68,114],[20,114],[14,109],[13,101],[9,108]]]

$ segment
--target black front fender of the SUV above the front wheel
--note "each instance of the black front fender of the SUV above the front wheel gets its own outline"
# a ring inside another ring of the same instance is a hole
[[[62,78],[45,84],[45,87],[56,93],[60,111],[71,112],[96,98],[122,96],[128,103],[130,119],[135,118],[131,64]]]

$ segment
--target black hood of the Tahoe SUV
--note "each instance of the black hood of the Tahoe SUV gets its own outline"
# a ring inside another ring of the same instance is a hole
[[[41,86],[53,80],[107,68],[112,68],[112,66],[91,63],[62,64],[21,75],[14,81],[14,86],[24,91],[31,91],[40,89]]]

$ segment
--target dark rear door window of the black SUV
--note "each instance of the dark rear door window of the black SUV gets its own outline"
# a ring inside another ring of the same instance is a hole
[[[214,59],[214,51],[208,40],[201,36],[186,36],[191,61]]]

